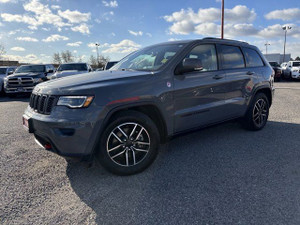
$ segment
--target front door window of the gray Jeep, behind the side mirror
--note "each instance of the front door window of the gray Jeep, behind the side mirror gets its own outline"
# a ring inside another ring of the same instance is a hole
[[[185,58],[196,58],[202,62],[201,71],[212,71],[218,69],[216,47],[212,44],[198,45]]]

